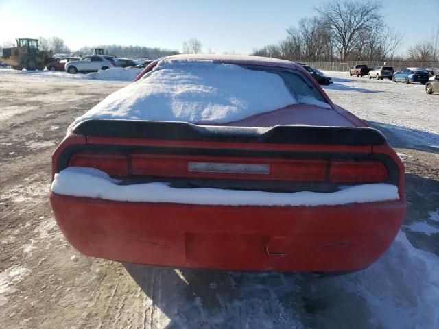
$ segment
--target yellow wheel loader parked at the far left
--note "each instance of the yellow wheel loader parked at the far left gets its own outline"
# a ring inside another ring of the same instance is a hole
[[[16,46],[3,48],[3,56],[0,60],[7,62],[13,69],[23,68],[34,71],[43,70],[52,57],[52,51],[40,51],[37,39],[15,39]]]

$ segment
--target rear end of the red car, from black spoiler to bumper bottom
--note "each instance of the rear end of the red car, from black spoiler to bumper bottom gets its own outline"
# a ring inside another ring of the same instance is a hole
[[[147,183],[180,195],[163,202],[139,193],[133,202],[106,199],[104,190],[62,195],[52,186],[51,206],[69,242],[83,254],[129,263],[351,271],[385,252],[405,213],[403,164],[370,127],[91,120],[75,127],[52,160],[54,176],[69,167],[104,171],[117,179],[115,195]],[[353,201],[331,201],[346,188],[381,184],[396,197],[355,202],[349,192]],[[300,193],[316,204],[276,201]]]

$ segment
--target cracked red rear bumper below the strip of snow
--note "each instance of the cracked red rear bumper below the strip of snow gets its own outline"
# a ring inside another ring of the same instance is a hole
[[[351,271],[392,243],[405,199],[343,206],[115,202],[51,192],[82,254],[128,263],[234,270]]]

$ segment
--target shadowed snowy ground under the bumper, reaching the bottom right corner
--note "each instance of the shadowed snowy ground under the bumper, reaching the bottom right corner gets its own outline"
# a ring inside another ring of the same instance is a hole
[[[414,248],[403,232],[375,264],[345,276],[126,269],[148,296],[161,296],[158,328],[439,328],[439,258]]]

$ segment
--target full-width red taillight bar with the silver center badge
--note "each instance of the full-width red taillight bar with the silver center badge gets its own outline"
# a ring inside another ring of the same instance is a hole
[[[385,182],[388,178],[387,168],[377,161],[75,154],[69,166],[97,168],[112,176],[333,183]]]

